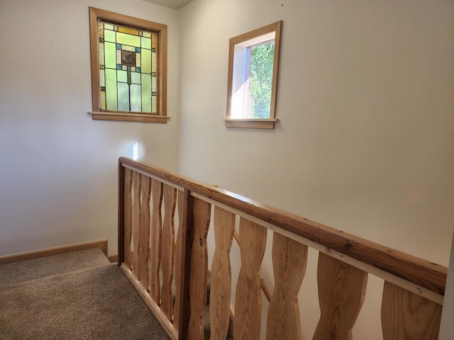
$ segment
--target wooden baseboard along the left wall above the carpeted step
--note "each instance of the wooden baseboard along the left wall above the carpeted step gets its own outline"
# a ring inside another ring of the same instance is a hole
[[[65,254],[71,251],[92,249],[99,247],[107,256],[107,240],[101,239],[99,241],[70,244],[69,246],[59,246],[57,248],[43,249],[38,251],[30,251],[28,253],[21,253],[9,256],[0,257],[0,264],[11,263],[23,260],[38,259],[38,257],[52,256],[57,254]]]

